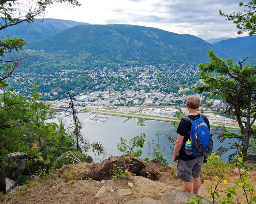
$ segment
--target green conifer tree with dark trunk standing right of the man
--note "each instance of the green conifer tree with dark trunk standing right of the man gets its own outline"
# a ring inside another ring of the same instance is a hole
[[[232,59],[223,60],[212,50],[208,54],[211,61],[198,65],[199,78],[205,84],[196,90],[223,99],[221,106],[224,113],[235,116],[241,129],[241,135],[232,136],[241,144],[230,148],[239,148],[246,155],[250,137],[255,138],[252,132],[256,119],[256,66],[243,66],[244,61],[237,64]]]

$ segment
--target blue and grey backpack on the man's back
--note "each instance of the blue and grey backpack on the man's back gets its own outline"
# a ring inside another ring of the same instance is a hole
[[[202,117],[201,117],[202,116]],[[204,121],[204,115],[200,114],[199,119],[191,120],[189,117],[184,117],[183,120],[191,124],[190,141],[192,143],[191,156],[204,157],[210,154],[213,149],[212,134]]]

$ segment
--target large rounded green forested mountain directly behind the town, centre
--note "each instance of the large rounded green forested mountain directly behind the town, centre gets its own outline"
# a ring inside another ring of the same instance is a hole
[[[207,51],[213,48],[209,43],[198,39],[143,26],[81,25],[47,39],[28,43],[25,48],[40,50],[41,53],[37,56],[40,59],[43,57],[42,52],[53,56],[64,53],[63,57],[66,57],[63,60],[76,59],[77,66],[74,62],[73,65],[71,62],[66,64],[73,69],[83,68],[82,64],[86,66],[92,61],[119,65],[197,65],[208,61]],[[40,59],[32,57],[30,60],[37,61],[40,65],[50,65],[47,58]]]

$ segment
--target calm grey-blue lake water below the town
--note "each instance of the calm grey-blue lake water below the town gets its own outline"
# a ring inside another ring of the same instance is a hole
[[[83,123],[83,128],[81,130],[84,137],[86,137],[90,143],[101,142],[105,150],[109,155],[120,156],[123,153],[119,152],[116,148],[117,143],[120,143],[120,138],[124,138],[127,142],[134,136],[140,135],[141,133],[146,134],[144,147],[142,148],[142,155],[140,158],[144,159],[150,157],[152,159],[153,145],[152,139],[155,139],[166,150],[163,152],[163,156],[167,158],[169,163],[172,163],[173,147],[169,140],[163,137],[157,137],[157,134],[164,136],[167,134],[172,134],[176,136],[176,132],[171,130],[168,122],[158,122],[158,121],[145,121],[146,126],[138,126],[136,119],[129,119],[124,122],[127,118],[120,116],[110,116],[110,119],[105,122],[92,121],[89,117],[93,115],[92,113],[78,113],[79,120]],[[63,117],[68,124],[71,123],[71,116]],[[56,122],[56,120],[54,121]],[[218,141],[213,137],[215,151],[219,146],[221,146]],[[151,142],[151,148],[148,147],[147,142]],[[228,145],[226,144],[222,144]],[[151,155],[149,155],[149,152]],[[105,158],[108,158],[106,155]],[[226,161],[228,155],[223,155],[222,160]]]

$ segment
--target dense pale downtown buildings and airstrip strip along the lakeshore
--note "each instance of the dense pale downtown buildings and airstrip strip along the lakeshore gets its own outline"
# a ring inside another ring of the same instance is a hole
[[[201,97],[201,100],[204,97]],[[144,98],[144,101],[141,101]],[[154,99],[157,98],[157,100]],[[94,92],[88,95],[80,94],[73,97],[73,103],[76,105],[76,111],[86,111],[96,114],[119,115],[125,117],[142,117],[145,119],[153,119],[159,121],[176,121],[178,115],[188,114],[185,106],[187,96],[179,97],[180,104],[169,104],[165,100],[172,100],[170,94],[161,94],[159,92],[144,93],[139,91],[127,92]],[[124,106],[128,101],[129,106]],[[72,110],[68,108],[70,99],[60,99],[55,101],[46,101],[52,104],[58,112],[62,112],[65,116],[70,115]],[[220,105],[220,100],[214,100],[214,107],[200,107],[199,112],[206,115],[211,125],[237,127],[236,120],[216,114],[216,109]],[[102,116],[92,115],[90,120],[99,120],[104,122]]]

